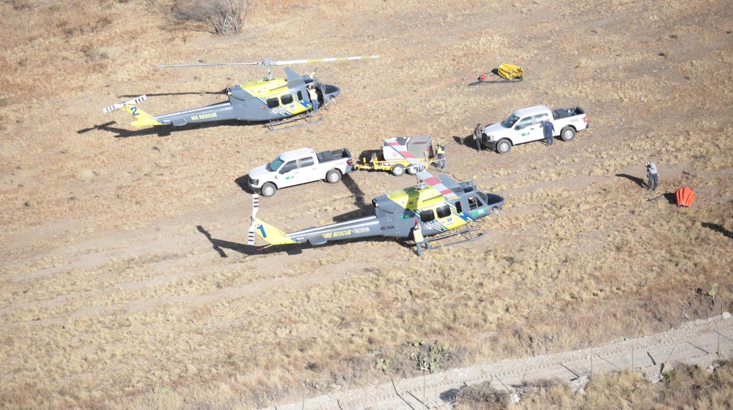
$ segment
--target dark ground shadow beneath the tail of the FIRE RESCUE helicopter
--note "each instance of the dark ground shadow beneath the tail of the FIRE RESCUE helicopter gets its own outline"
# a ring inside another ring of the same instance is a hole
[[[306,249],[314,249],[317,247],[331,247],[334,245],[342,245],[348,242],[392,242],[397,243],[398,245],[401,245],[402,247],[410,248],[411,246],[404,240],[399,238],[388,238],[386,236],[372,236],[367,238],[355,238],[355,239],[344,239],[342,241],[334,241],[334,242],[326,242],[323,245],[317,245],[313,246],[310,244],[310,242],[303,243],[303,244],[292,244],[292,245],[276,245],[276,246],[268,246],[265,247],[262,250],[257,250],[258,247],[256,245],[246,245],[239,242],[230,242],[225,241],[223,239],[216,239],[211,236],[209,231],[207,231],[202,225],[196,225],[196,229],[199,230],[204,236],[206,236],[206,239],[209,239],[209,242],[211,242],[212,247],[216,252],[221,256],[221,258],[228,258],[229,256],[226,255],[226,252],[224,252],[224,249],[234,250],[235,252],[241,253],[245,257],[247,256],[254,256],[254,255],[270,255],[272,253],[287,253],[288,256],[295,256],[300,255],[303,253],[303,250]]]

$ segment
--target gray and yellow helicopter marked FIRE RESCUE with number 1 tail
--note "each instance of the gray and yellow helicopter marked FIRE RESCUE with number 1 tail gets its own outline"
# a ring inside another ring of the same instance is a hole
[[[468,236],[468,239],[452,242],[445,246],[474,241],[484,236],[486,232],[474,236],[472,231],[477,227],[471,226],[466,226],[460,231],[449,231],[468,225],[474,220],[490,215],[491,212],[498,214],[498,209],[504,206],[504,198],[493,193],[485,193],[479,187],[476,187],[473,180],[455,182],[445,174],[435,178],[425,169],[424,163],[420,163],[407,150],[398,149],[397,142],[394,144],[393,148],[399,156],[412,164],[410,168],[414,167],[419,180],[416,186],[372,199],[374,215],[301,229],[301,231],[291,232],[290,234],[286,234],[284,231],[257,218],[259,197],[254,194],[252,198],[252,222],[249,227],[249,245],[254,245],[255,232],[270,245],[303,242],[310,242],[311,245],[323,245],[328,241],[366,236],[410,238],[416,223],[420,224],[424,236],[433,236],[427,238],[429,242],[460,234]]]

